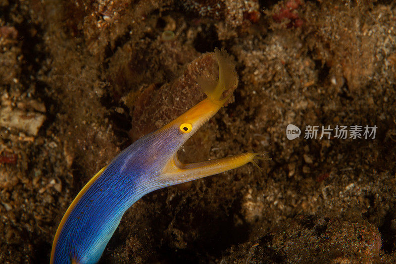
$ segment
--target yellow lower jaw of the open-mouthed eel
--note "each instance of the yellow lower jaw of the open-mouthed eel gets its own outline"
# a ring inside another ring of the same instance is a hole
[[[163,181],[179,184],[238,168],[248,162],[252,162],[257,155],[261,154],[243,153],[195,163],[182,163],[177,158],[177,154],[175,154],[170,158],[159,177]]]

